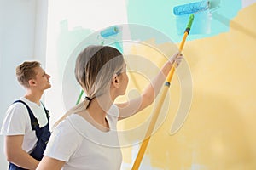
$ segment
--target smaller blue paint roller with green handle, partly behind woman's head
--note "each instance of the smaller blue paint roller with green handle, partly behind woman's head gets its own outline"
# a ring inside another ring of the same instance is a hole
[[[102,43],[102,45],[104,45],[104,39],[113,38],[113,37],[117,36],[117,34],[119,34],[121,31],[122,31],[122,27],[120,27],[120,26],[109,26],[108,28],[100,31],[98,38],[102,39],[101,43]],[[119,48],[120,51],[122,51],[121,50],[122,48],[121,48],[119,42],[115,42],[114,44],[117,48]],[[84,94],[84,90],[82,89],[79,94],[79,98],[77,99],[76,105],[79,104],[83,94]]]

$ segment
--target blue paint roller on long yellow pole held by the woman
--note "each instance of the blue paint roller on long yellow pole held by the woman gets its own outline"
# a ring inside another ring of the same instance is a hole
[[[189,3],[189,4],[183,4],[177,7],[173,8],[173,13],[175,15],[183,15],[183,14],[190,14],[189,15],[189,22],[186,26],[186,29],[183,33],[183,39],[182,42],[180,43],[179,46],[179,51],[183,51],[184,43],[186,41],[187,36],[189,35],[189,31],[191,29],[192,23],[194,21],[194,14],[203,10],[207,10],[209,8],[209,1],[201,1],[197,3]],[[154,114],[150,120],[149,126],[148,126],[148,131],[145,135],[145,139],[143,140],[143,144],[140,147],[140,150],[138,151],[137,158],[134,161],[133,167],[131,168],[132,170],[137,170],[140,167],[141,161],[143,160],[143,155],[145,153],[145,150],[147,149],[148,142],[150,139],[150,135],[152,134],[154,130],[154,125],[157,121],[158,116],[160,115],[160,110],[162,107],[162,104],[164,103],[164,100],[166,98],[167,91],[170,87],[171,81],[172,81],[172,76],[175,71],[177,64],[174,63],[172,65],[172,69],[169,72],[168,76],[166,77],[166,83],[164,85],[164,89],[162,91],[161,98],[159,100],[158,105],[155,107]]]

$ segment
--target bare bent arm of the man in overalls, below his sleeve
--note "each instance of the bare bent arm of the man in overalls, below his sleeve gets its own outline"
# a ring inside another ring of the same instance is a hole
[[[18,167],[36,169],[39,161],[22,150],[24,135],[5,136],[5,155],[7,161]]]

